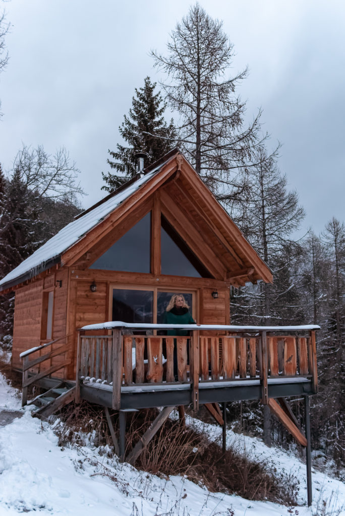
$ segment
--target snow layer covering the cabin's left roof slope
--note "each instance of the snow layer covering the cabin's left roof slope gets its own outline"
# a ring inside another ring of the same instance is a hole
[[[23,275],[29,273],[29,277],[33,278],[43,270],[45,264],[52,262],[82,238],[88,231],[94,228],[99,222],[110,215],[114,209],[124,200],[132,195],[140,186],[144,185],[152,178],[154,174],[159,172],[166,162],[160,163],[156,168],[149,171],[142,178],[134,183],[129,184],[127,188],[119,191],[117,195],[106,200],[104,203],[87,211],[82,217],[70,222],[65,228],[62,228],[56,235],[46,241],[37,251],[30,255],[18,267],[11,270],[7,276],[0,280],[0,291],[15,285],[14,280],[20,279]],[[58,261],[58,260],[57,260]],[[57,263],[57,261],[55,263]],[[26,278],[27,279],[27,278]],[[22,280],[24,281],[24,280]],[[10,283],[8,285],[8,283]],[[18,281],[17,283],[20,283]],[[4,285],[2,287],[2,285]]]

